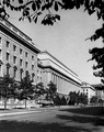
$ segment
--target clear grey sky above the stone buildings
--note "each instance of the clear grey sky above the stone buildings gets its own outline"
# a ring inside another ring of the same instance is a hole
[[[59,11],[61,16],[51,25],[42,25],[41,19],[37,24],[28,21],[19,22],[19,13],[12,12],[10,22],[32,37],[33,42],[42,51],[48,51],[62,64],[73,70],[82,81],[100,84],[101,80],[93,76],[92,66],[95,62],[88,62],[91,58],[89,50],[102,47],[102,40],[96,42],[85,41],[94,34],[94,31],[102,26],[96,14],[91,16],[83,12],[83,9],[71,11]]]

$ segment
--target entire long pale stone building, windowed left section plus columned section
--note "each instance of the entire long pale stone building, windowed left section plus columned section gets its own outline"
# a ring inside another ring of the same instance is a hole
[[[57,91],[68,95],[81,90],[78,75],[48,52],[41,52],[32,38],[7,20],[0,19],[0,76],[10,74],[16,81],[28,72],[33,84],[51,80]]]

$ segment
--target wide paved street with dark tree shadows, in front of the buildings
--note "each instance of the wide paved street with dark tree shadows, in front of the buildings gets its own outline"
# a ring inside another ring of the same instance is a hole
[[[0,118],[0,132],[103,132],[104,108],[43,109]]]

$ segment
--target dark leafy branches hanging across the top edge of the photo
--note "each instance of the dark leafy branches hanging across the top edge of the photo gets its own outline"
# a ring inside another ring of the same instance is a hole
[[[97,19],[104,19],[103,0],[1,0],[0,13],[1,16],[9,18],[7,8],[11,11],[20,11],[22,13],[20,21],[28,19],[30,22],[33,20],[35,23],[43,14],[42,24],[53,25],[56,20],[60,20],[59,10],[78,10],[82,6],[90,15],[95,12]]]

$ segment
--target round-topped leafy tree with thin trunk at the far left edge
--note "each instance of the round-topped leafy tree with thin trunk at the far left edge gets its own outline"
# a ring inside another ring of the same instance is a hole
[[[7,109],[7,101],[14,97],[15,87],[14,79],[10,75],[4,75],[0,79],[0,98],[4,100],[4,110]]]

